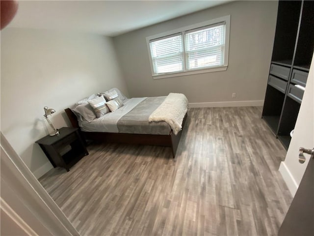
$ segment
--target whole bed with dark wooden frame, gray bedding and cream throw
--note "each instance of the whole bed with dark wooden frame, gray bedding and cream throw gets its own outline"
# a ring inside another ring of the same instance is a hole
[[[85,140],[170,147],[172,155],[175,157],[187,118],[187,99],[183,94],[170,93],[168,96],[129,99],[119,89],[113,88],[108,91],[117,91],[118,98],[113,100],[121,98],[120,101],[123,101],[123,105],[119,109],[108,112],[99,118],[89,121],[83,120],[75,109],[78,104],[88,106],[86,101],[93,99],[93,96],[65,109],[71,124],[73,127],[80,129],[80,133]],[[97,95],[102,96],[102,94],[105,94],[105,92]],[[177,102],[181,98],[184,101]],[[106,97],[105,100],[105,103],[109,106]],[[177,103],[180,103],[180,105],[176,105]],[[167,110],[167,108],[170,110]],[[160,118],[159,115],[163,116],[165,113],[175,118],[177,124],[174,125],[171,119]]]

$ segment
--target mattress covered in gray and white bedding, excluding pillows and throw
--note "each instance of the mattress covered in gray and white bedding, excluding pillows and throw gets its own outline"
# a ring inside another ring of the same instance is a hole
[[[79,122],[85,132],[169,135],[171,128],[164,121],[149,122],[149,116],[160,106],[166,96],[141,97],[124,100],[124,106],[96,118],[92,122]]]

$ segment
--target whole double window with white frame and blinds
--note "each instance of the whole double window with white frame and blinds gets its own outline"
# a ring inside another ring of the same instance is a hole
[[[230,16],[147,37],[154,79],[226,70]]]

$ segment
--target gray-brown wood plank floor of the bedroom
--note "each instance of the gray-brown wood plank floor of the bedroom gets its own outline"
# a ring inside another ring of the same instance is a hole
[[[277,235],[286,151],[260,107],[193,108],[171,149],[91,145],[39,180],[81,235]]]

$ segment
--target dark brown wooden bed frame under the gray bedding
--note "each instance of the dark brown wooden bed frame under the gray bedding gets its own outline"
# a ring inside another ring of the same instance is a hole
[[[69,117],[73,127],[80,128],[78,126],[77,116],[72,112],[70,108],[64,110]],[[185,114],[182,122],[182,130],[187,118]],[[169,135],[157,135],[157,134],[122,134],[122,133],[105,133],[105,132],[85,132],[80,131],[85,140],[102,141],[107,143],[120,143],[120,144],[139,144],[139,145],[152,145],[152,146],[164,146],[172,149],[173,158],[176,156],[176,152],[179,146],[182,130],[175,135],[171,130]]]

